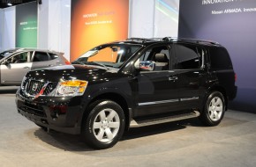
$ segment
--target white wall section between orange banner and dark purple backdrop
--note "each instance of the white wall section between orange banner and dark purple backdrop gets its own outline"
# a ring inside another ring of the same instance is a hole
[[[179,0],[131,0],[129,37],[177,37]]]

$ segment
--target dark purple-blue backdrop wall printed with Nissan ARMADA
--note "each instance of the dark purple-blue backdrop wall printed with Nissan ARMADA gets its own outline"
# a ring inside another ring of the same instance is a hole
[[[230,108],[256,113],[256,1],[204,2],[180,0],[178,36],[215,40],[226,47],[238,87]]]

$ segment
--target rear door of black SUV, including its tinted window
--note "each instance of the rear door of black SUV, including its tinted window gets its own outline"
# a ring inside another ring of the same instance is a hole
[[[207,81],[207,71],[204,69],[206,51],[203,47],[186,43],[174,44],[173,51],[180,109],[198,108]]]

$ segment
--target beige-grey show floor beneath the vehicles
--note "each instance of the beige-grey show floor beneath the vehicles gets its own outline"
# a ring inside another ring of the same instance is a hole
[[[256,166],[256,114],[229,110],[217,127],[197,119],[133,128],[111,149],[43,131],[17,113],[16,87],[0,89],[0,166]]]

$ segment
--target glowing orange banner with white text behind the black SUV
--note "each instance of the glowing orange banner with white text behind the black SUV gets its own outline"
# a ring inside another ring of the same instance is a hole
[[[92,47],[128,37],[129,0],[72,0],[71,62]]]

